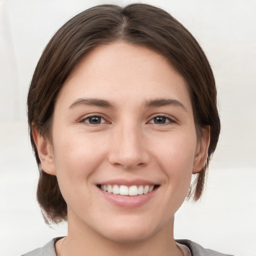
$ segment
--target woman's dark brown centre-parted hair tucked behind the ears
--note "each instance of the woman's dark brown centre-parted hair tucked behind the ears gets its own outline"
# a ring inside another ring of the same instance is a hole
[[[68,20],[50,39],[36,65],[27,96],[27,115],[32,148],[39,169],[37,200],[47,223],[67,219],[67,205],[55,175],[43,171],[32,136],[36,127],[50,139],[56,97],[71,70],[92,48],[125,41],[153,49],[178,69],[188,84],[197,137],[210,127],[208,155],[188,195],[202,194],[209,160],[215,150],[220,121],[216,86],[210,64],[191,33],[163,9],[134,3],[125,7],[103,4]]]

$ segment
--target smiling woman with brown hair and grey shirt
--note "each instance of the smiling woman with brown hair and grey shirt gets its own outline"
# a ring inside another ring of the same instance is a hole
[[[27,105],[37,199],[68,234],[25,255],[223,255],[173,237],[220,123],[210,65],[172,16],[147,4],[79,13],[43,51]]]

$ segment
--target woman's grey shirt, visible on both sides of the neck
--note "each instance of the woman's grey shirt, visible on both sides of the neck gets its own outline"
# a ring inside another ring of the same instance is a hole
[[[43,247],[32,250],[22,256],[56,256],[54,244],[60,238],[61,237],[54,238]],[[201,245],[190,240],[176,240],[176,242],[186,245],[191,252],[191,256],[232,256],[214,250],[205,249]]]

